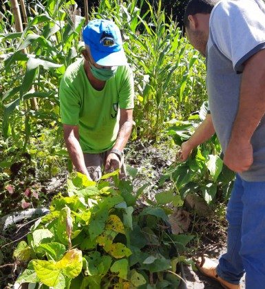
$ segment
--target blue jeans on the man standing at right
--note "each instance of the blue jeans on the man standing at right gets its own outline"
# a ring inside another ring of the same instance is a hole
[[[233,284],[246,272],[246,288],[265,288],[265,182],[246,182],[237,175],[227,206],[227,253],[217,273]]]

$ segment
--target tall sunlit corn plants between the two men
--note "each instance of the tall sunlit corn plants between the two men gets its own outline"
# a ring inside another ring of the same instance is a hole
[[[159,136],[165,121],[187,117],[206,98],[204,63],[177,24],[165,15],[161,1],[141,12],[144,1],[100,2],[96,17],[114,19],[122,29],[125,52],[135,72],[136,131]],[[195,64],[200,66],[197,72]]]

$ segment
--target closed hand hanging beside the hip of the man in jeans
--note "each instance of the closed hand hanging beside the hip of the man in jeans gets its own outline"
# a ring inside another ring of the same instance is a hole
[[[247,171],[253,164],[253,148],[251,142],[230,140],[224,154],[224,164],[236,173]]]

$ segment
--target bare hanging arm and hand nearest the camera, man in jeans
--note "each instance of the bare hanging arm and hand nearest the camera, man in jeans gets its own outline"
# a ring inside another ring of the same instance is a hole
[[[253,163],[251,137],[265,113],[265,49],[246,61],[240,87],[240,104],[233,123],[224,164],[235,172]]]

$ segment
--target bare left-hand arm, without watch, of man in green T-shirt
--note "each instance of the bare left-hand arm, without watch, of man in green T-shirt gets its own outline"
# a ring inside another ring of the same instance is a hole
[[[63,136],[70,158],[76,168],[76,171],[87,175],[91,180],[87,168],[85,167],[85,160],[83,151],[79,144],[79,134],[77,125],[63,125]]]

